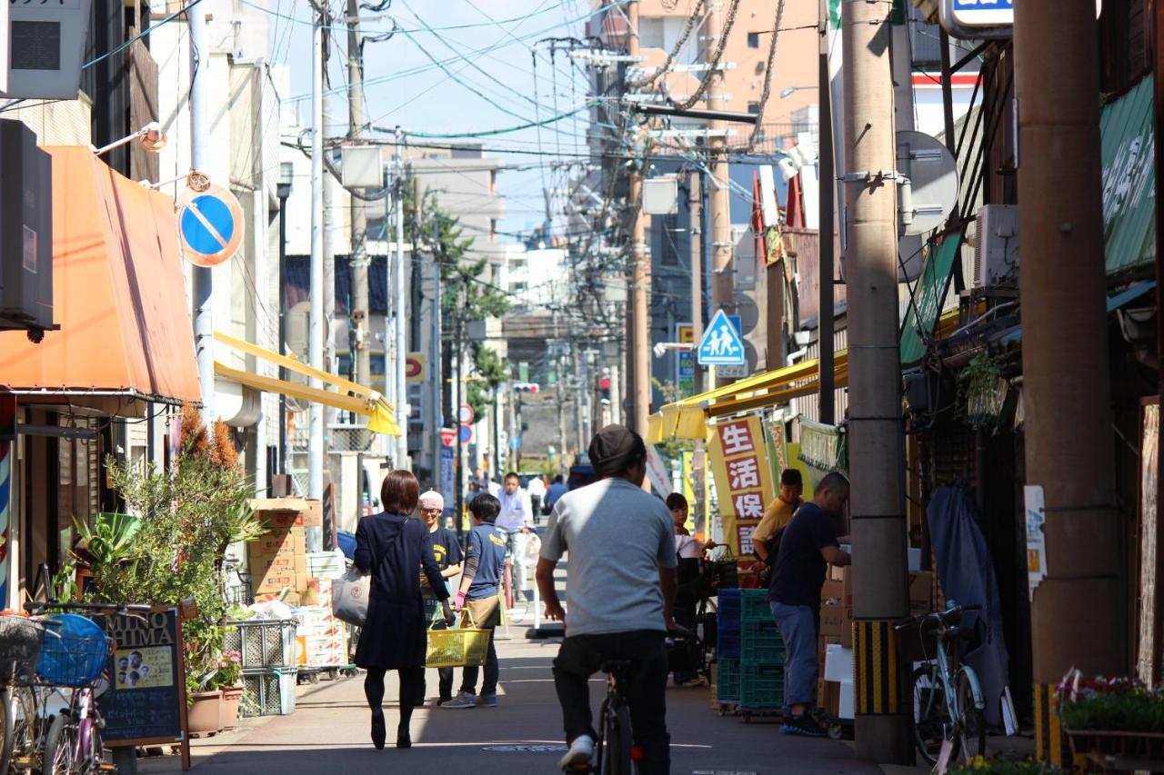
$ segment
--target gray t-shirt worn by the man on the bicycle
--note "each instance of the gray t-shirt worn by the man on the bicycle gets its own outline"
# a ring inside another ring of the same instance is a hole
[[[549,514],[541,556],[569,553],[566,632],[666,630],[659,568],[674,568],[670,512],[626,479],[567,492]]]

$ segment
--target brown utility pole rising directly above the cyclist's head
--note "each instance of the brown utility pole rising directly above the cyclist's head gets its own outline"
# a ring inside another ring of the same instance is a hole
[[[630,22],[626,54],[639,56],[639,3],[626,7]],[[646,159],[644,159],[646,164]],[[643,170],[630,175],[627,202],[630,213],[630,325],[626,339],[627,410],[626,425],[646,438],[647,415],[651,413],[651,259],[646,255],[643,221]],[[651,485],[644,483],[650,491]]]

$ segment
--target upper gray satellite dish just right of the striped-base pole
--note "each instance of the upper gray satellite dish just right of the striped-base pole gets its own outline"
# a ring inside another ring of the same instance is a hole
[[[941,140],[921,131],[897,133],[897,225],[903,236],[945,222],[958,204],[958,164]]]

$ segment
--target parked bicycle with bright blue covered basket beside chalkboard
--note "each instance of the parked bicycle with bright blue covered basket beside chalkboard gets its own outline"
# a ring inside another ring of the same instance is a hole
[[[92,619],[70,613],[90,612],[141,619],[148,605],[115,605],[105,603],[26,603],[29,613],[54,611],[43,620],[52,627],[55,638],[45,640],[37,662],[37,678],[47,692],[43,713],[34,713],[40,727],[30,746],[29,760],[35,767],[40,760],[44,775],[93,775],[116,773],[116,767],[105,761],[101,730],[105,721],[98,710],[97,698],[108,688],[104,677],[106,661],[114,646]],[[71,689],[65,695],[62,689]],[[63,701],[55,714],[48,713],[49,701]],[[35,705],[36,695],[33,695]],[[45,718],[48,727],[44,728]]]

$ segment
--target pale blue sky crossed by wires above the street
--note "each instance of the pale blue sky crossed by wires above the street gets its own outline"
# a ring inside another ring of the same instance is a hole
[[[391,0],[384,5],[383,10],[365,7],[360,15],[361,31],[369,37],[391,30],[392,20],[396,26],[389,40],[364,45],[364,113],[374,126],[391,130],[398,125],[432,134],[505,129],[569,113],[587,99],[589,84],[582,64],[561,49],[551,57],[546,38],[584,37],[588,0]],[[341,6],[346,8],[343,0],[332,1],[334,12]],[[311,6],[306,0],[268,0],[267,9],[272,62],[290,65],[289,98],[307,119]],[[333,26],[343,24],[342,16],[333,21]],[[347,33],[332,29],[331,36],[331,85],[346,88]],[[331,134],[346,133],[346,93],[332,98],[331,111],[335,121]],[[505,159],[511,169],[497,179],[506,207],[498,229],[517,234],[544,220],[544,190],[566,186],[569,171],[554,165],[558,158],[584,161],[573,155],[587,152],[587,123],[582,111],[541,128],[476,140],[417,142],[481,142],[494,149],[489,155]],[[506,155],[502,149],[525,152]]]

